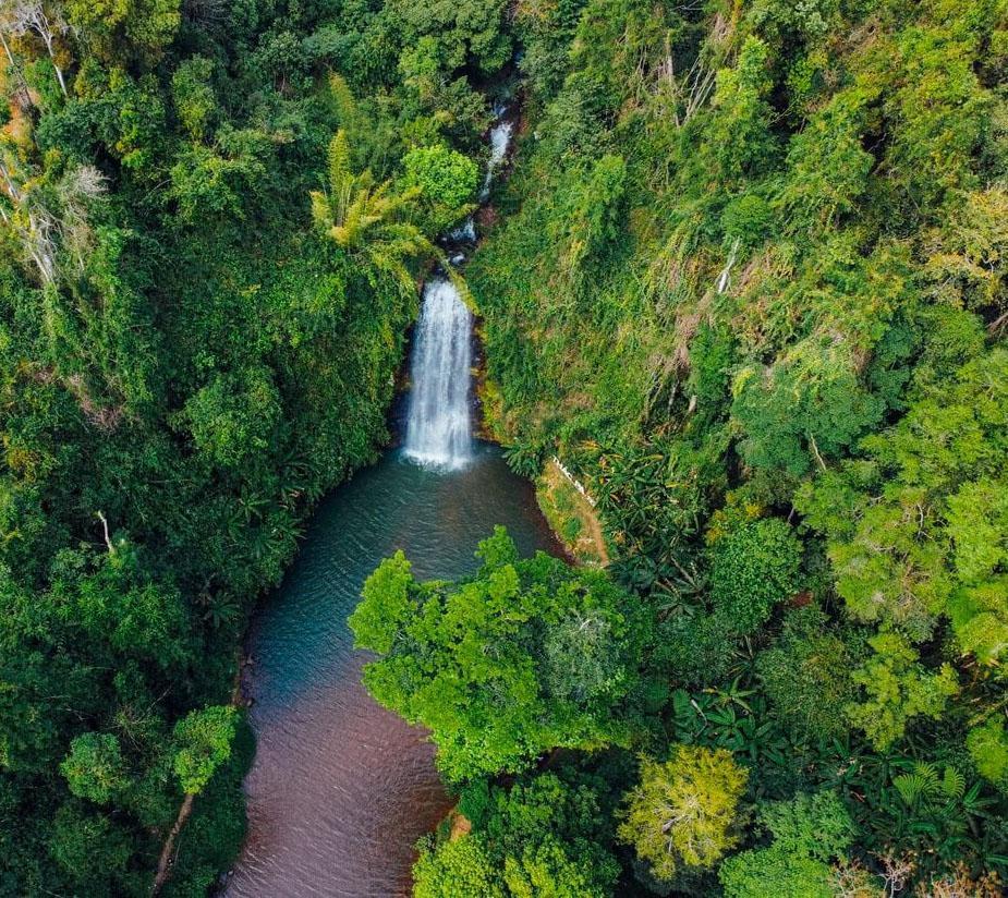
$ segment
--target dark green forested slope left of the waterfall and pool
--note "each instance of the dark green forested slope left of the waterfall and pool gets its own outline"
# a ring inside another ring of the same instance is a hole
[[[511,54],[352,5],[0,4],[0,894],[147,895],[180,806],[166,894],[241,844],[238,644],[475,199],[446,75]]]

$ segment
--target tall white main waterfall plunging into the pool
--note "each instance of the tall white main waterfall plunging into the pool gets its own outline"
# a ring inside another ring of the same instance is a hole
[[[413,349],[405,454],[432,468],[457,470],[472,457],[469,399],[472,314],[454,284],[424,288]]]

